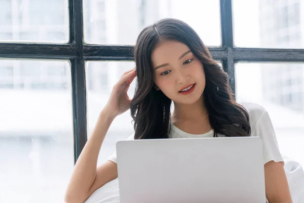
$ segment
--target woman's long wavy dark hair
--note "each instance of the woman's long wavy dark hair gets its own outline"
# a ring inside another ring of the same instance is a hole
[[[145,27],[134,47],[137,82],[130,104],[134,139],[169,138],[172,100],[161,90],[154,88],[154,69],[151,62],[151,53],[163,40],[178,41],[187,45],[202,62],[206,76],[204,101],[214,137],[217,137],[217,133],[227,137],[250,136],[249,115],[246,109],[234,100],[228,75],[217,61],[212,59],[194,29],[180,20],[166,18]]]

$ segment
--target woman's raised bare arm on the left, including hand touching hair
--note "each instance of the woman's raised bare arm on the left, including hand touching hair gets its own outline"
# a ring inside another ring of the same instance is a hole
[[[117,178],[116,163],[105,161],[97,167],[97,159],[112,121],[130,107],[131,99],[127,90],[135,77],[134,70],[126,72],[113,87],[109,101],[100,112],[95,128],[74,166],[65,192],[66,203],[83,203],[95,190]]]

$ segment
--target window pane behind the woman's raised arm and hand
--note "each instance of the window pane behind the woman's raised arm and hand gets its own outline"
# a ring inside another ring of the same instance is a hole
[[[100,111],[106,105],[113,86],[124,72],[133,69],[134,62],[89,61],[86,63],[87,96],[88,96],[88,136],[91,135]],[[136,80],[136,79],[135,79]],[[134,95],[135,80],[131,84],[128,95]],[[118,116],[111,124],[98,158],[102,163],[116,150],[116,142],[126,140],[134,132],[130,110]]]

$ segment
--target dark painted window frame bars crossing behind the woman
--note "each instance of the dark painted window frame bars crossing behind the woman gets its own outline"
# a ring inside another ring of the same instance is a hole
[[[304,62],[304,49],[240,48],[233,42],[232,0],[220,1],[221,47],[208,47],[212,57],[222,61],[235,92],[235,63]],[[65,44],[0,43],[2,58],[65,59],[71,63],[74,162],[87,142],[87,100],[85,62],[132,61],[133,46],[84,43],[83,2],[68,0],[69,41]]]

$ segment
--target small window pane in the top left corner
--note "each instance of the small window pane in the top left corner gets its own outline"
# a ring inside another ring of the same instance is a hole
[[[68,41],[67,0],[0,0],[0,41]]]

